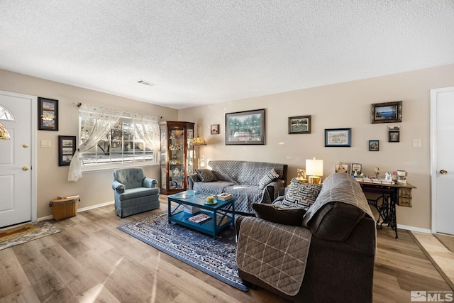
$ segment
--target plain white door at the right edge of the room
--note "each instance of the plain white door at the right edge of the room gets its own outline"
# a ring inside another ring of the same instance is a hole
[[[454,235],[454,87],[431,89],[432,231]]]

